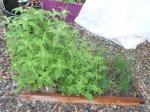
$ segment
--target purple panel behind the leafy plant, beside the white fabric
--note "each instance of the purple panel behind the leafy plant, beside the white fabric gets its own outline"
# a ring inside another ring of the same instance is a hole
[[[67,15],[66,22],[71,23],[75,20],[78,16],[82,5],[81,4],[72,4],[72,3],[64,3],[59,1],[51,1],[51,0],[43,0],[43,9],[45,10],[52,10],[55,9],[56,11],[62,11],[64,9],[69,11]]]

